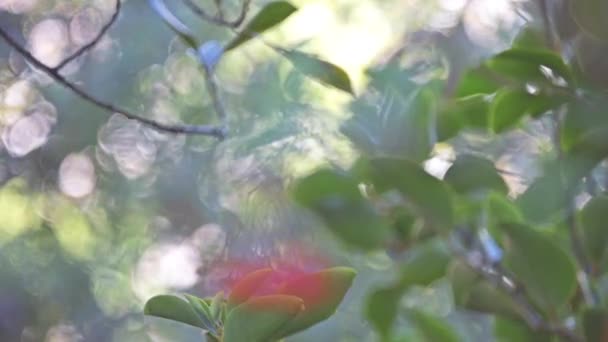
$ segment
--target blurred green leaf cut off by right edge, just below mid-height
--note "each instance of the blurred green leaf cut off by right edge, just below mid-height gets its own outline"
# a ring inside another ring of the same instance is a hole
[[[591,199],[579,213],[583,232],[585,251],[596,265],[606,254],[608,246],[608,196],[601,195]]]

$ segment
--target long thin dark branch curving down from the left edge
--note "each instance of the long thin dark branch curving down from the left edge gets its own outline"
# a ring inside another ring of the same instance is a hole
[[[171,124],[163,124],[157,122],[155,120],[145,118],[139,116],[137,114],[131,113],[125,109],[118,108],[111,103],[104,102],[95,98],[93,95],[90,95],[86,91],[80,89],[78,86],[74,85],[66,78],[61,76],[55,68],[51,68],[46,64],[42,63],[36,57],[34,57],[27,49],[22,47],[15,39],[13,39],[6,31],[0,28],[0,37],[2,37],[11,47],[13,47],[17,52],[19,52],[29,63],[31,63],[34,67],[42,70],[47,75],[52,77],[55,81],[63,85],[64,87],[70,89],[80,98],[85,101],[88,101],[99,108],[102,108],[108,112],[114,112],[118,114],[122,114],[128,119],[138,121],[144,125],[157,129],[159,131],[165,131],[170,133],[179,133],[179,134],[199,134],[199,135],[208,135],[213,136],[218,139],[223,139],[226,136],[226,128],[221,126],[213,126],[213,125],[171,125]]]

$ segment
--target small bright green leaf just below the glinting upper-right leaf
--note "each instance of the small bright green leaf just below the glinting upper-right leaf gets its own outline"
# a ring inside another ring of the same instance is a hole
[[[496,94],[490,106],[490,127],[495,133],[502,133],[524,116],[536,118],[565,101],[564,96],[533,95],[524,89],[504,88]]]

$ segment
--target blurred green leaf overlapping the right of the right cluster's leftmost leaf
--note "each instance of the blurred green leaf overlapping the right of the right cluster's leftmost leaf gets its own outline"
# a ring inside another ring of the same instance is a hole
[[[355,169],[380,193],[397,190],[429,222],[451,228],[454,213],[446,185],[406,159],[360,160]]]

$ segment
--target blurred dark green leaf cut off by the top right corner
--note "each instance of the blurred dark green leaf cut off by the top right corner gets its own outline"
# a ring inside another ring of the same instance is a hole
[[[570,1],[570,11],[574,20],[583,31],[600,40],[608,40],[606,13],[608,3],[604,0]]]

